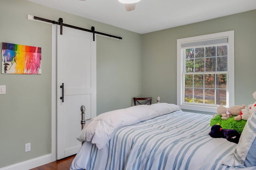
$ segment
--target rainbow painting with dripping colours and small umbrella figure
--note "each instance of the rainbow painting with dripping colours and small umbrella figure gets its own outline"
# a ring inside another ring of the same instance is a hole
[[[41,47],[2,42],[3,74],[41,74]]]

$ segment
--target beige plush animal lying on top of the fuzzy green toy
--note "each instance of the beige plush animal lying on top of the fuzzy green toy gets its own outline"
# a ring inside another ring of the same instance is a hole
[[[238,116],[240,115],[240,112],[242,109],[246,108],[245,104],[243,105],[234,105],[229,108],[226,108],[222,105],[218,106],[217,113],[221,115],[222,120],[227,120],[228,118],[231,118],[232,116]]]

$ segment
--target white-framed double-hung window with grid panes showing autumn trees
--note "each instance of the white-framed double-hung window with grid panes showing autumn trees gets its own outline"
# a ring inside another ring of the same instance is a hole
[[[177,105],[215,113],[234,105],[234,31],[177,40]]]

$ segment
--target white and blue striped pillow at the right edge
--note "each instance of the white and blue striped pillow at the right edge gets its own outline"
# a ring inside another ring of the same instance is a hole
[[[227,166],[256,166],[256,112],[247,120],[234,152],[222,164]]]

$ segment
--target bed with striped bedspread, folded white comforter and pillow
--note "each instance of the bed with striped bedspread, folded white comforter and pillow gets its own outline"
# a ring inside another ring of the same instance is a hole
[[[256,115],[238,144],[211,138],[212,115],[158,103],[114,110],[86,123],[70,170],[256,170]]]

